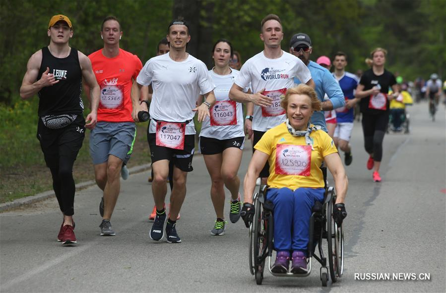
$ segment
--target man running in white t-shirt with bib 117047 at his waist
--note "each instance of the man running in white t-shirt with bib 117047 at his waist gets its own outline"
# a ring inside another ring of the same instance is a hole
[[[186,178],[192,169],[195,146],[193,116],[198,113],[201,122],[209,116],[209,106],[215,103],[215,88],[206,65],[186,52],[191,40],[188,23],[174,20],[167,31],[169,54],[153,57],[142,68],[133,83],[133,119],[138,122],[138,112],[147,111],[147,103],[139,101],[139,89],[150,83],[153,88],[150,104],[149,146],[154,179],[152,193],[156,217],[150,238],[160,241],[164,237],[164,223],[168,243],[180,243],[176,219],[186,196]],[[198,95],[204,93],[205,101],[195,105]],[[164,200],[167,194],[169,161],[173,160],[174,186],[171,194],[169,217]],[[168,218],[168,219],[167,219]]]

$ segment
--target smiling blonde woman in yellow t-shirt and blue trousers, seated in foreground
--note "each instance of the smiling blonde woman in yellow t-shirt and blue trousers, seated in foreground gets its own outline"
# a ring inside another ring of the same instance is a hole
[[[344,198],[347,176],[332,139],[319,126],[310,124],[321,103],[313,88],[300,84],[289,89],[281,106],[286,110],[284,123],[268,130],[255,145],[255,152],[244,181],[245,204],[242,217],[247,227],[255,213],[253,194],[258,174],[269,162],[269,190],[266,199],[274,204],[273,273],[306,273],[307,246],[312,207],[322,202],[324,179],[319,168],[325,162],[333,175],[337,197],[333,219],[340,225],[347,213]]]

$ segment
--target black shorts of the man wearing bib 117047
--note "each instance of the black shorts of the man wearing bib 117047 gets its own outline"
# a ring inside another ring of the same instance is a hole
[[[184,149],[175,149],[170,147],[160,147],[156,145],[156,136],[154,133],[147,135],[147,141],[150,147],[150,157],[152,164],[159,160],[173,161],[178,169],[184,172],[193,171],[192,158],[195,151],[195,135],[185,135]]]

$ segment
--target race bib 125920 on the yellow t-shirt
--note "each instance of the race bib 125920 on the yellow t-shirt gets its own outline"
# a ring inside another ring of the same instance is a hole
[[[310,171],[311,146],[276,146],[276,174],[310,176]]]

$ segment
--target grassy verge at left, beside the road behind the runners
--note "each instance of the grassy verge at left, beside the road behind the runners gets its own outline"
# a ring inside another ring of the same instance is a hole
[[[36,138],[37,99],[17,102],[13,108],[0,105],[0,119],[0,203],[52,190],[51,173]],[[137,124],[128,168],[150,163],[146,130],[147,122]],[[74,163],[75,183],[94,180],[89,139],[87,131]]]

